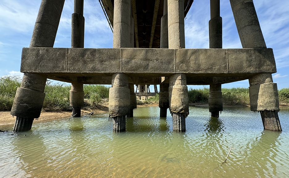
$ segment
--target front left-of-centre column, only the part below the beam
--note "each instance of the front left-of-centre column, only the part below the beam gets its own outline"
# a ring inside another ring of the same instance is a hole
[[[109,120],[113,120],[113,131],[125,131],[125,120],[130,114],[130,89],[128,75],[115,73],[109,89]]]

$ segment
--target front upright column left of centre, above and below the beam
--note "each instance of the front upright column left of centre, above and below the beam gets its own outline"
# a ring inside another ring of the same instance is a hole
[[[115,0],[113,11],[113,48],[130,48],[131,1]],[[112,75],[109,89],[109,120],[113,120],[113,131],[125,131],[125,119],[130,114],[130,89],[128,75]]]

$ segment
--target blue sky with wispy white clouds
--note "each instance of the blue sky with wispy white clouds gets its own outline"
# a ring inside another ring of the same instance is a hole
[[[223,48],[242,48],[229,0],[221,0]],[[0,1],[0,77],[21,75],[23,47],[29,47],[41,0]],[[289,87],[289,1],[255,0],[267,48],[273,48],[277,73],[272,74],[278,88]],[[54,47],[71,47],[73,0],[66,0]],[[84,1],[85,48],[112,48],[112,32],[98,0]],[[195,0],[185,20],[186,48],[209,48],[210,1]],[[191,86],[203,88],[203,85]],[[249,87],[248,80],[223,87]],[[151,88],[152,90],[152,88]]]

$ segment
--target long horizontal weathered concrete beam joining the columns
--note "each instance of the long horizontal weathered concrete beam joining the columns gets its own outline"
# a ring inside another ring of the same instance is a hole
[[[275,73],[271,48],[23,48],[21,72],[48,76],[89,76],[127,73],[163,77],[174,73],[218,76]]]

